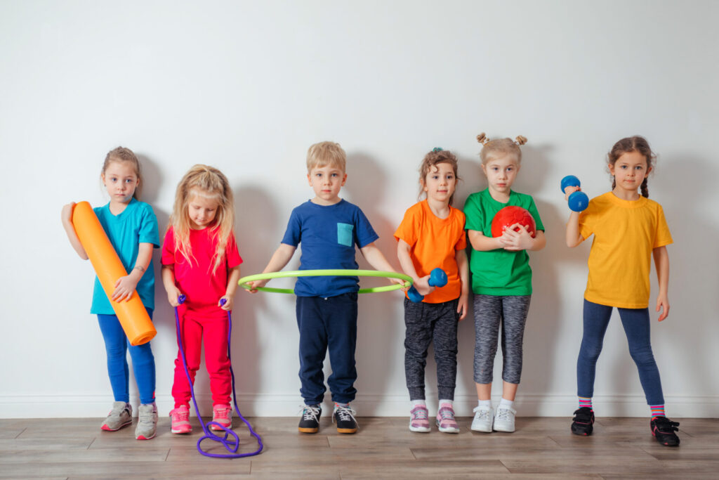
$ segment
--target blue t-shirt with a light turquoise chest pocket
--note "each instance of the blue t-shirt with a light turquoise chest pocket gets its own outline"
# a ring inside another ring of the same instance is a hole
[[[334,205],[306,201],[293,209],[282,243],[302,243],[300,270],[357,270],[354,245],[362,248],[377,240],[362,210],[346,200]],[[295,285],[297,296],[337,296],[359,289],[356,276],[305,276]]]

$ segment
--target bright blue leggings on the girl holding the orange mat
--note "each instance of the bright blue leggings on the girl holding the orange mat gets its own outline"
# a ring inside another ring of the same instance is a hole
[[[152,309],[148,308],[147,314],[152,319]],[[105,339],[107,374],[110,377],[115,402],[130,401],[128,348],[132,358],[132,371],[139,390],[139,402],[145,404],[155,402],[155,357],[152,356],[150,342],[135,347],[130,345],[116,315],[98,314],[97,320]]]

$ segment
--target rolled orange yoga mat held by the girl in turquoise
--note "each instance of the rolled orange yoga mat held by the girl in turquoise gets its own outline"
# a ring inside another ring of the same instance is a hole
[[[145,305],[139,299],[137,291],[132,292],[128,300],[115,302],[112,299],[112,292],[115,291],[115,282],[120,277],[126,276],[127,271],[115,249],[112,248],[110,239],[100,225],[95,212],[88,202],[81,201],[73,208],[73,227],[75,233],[83,244],[95,273],[97,273],[100,284],[110,300],[110,304],[117,315],[122,329],[125,331],[131,345],[142,345],[147,343],[157,334],[152,320],[145,310]]]

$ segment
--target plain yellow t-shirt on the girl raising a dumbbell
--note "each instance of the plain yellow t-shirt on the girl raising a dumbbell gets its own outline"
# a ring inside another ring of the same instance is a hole
[[[648,307],[651,252],[673,242],[661,205],[644,196],[623,200],[611,191],[597,196],[580,214],[580,235],[592,234],[585,299],[610,307]]]

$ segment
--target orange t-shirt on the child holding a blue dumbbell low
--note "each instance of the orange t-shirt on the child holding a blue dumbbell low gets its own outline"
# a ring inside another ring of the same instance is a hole
[[[423,302],[441,303],[459,298],[462,281],[457,268],[457,250],[467,248],[464,234],[464,213],[449,207],[449,215],[439,218],[432,213],[426,200],[407,209],[395,232],[397,240],[410,246],[410,256],[418,276],[426,276],[441,268],[447,274],[447,284],[424,297]]]

